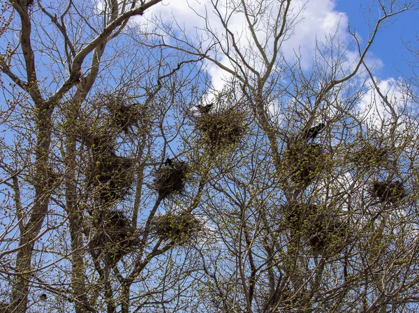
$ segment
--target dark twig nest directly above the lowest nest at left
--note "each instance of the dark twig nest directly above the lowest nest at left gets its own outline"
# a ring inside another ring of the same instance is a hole
[[[88,167],[92,174],[91,185],[98,190],[102,203],[123,199],[133,183],[133,165],[131,158],[106,153]]]

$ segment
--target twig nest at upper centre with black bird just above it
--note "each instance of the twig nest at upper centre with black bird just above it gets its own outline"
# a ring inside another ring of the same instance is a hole
[[[237,144],[244,133],[244,114],[233,108],[200,114],[196,128],[212,149]]]

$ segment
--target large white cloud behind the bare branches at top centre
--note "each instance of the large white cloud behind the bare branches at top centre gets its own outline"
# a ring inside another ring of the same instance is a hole
[[[218,9],[221,15],[228,15],[229,28],[235,34],[237,45],[240,47],[240,52],[245,56],[247,62],[254,68],[263,70],[263,59],[251,38],[244,13],[242,10],[237,10],[230,15],[231,10],[226,6],[226,3],[229,3],[229,6],[231,6],[233,2],[235,1],[226,0],[224,3],[219,2]],[[272,33],[267,33],[265,28],[267,27],[267,21],[271,25],[274,23],[279,10],[278,3],[279,1],[272,1],[269,3],[269,6],[263,8],[264,17],[260,18],[257,24],[258,31],[256,36],[261,45],[266,46],[265,50],[268,54],[272,52],[273,36]],[[249,10],[252,10],[253,1],[249,1],[248,4]],[[334,1],[293,1],[291,6],[291,15],[288,21],[295,23],[295,26],[292,33],[288,33],[291,36],[282,44],[282,52],[286,59],[291,60],[295,55],[295,51],[299,50],[302,54],[303,66],[309,66],[315,52],[316,38],[318,40],[324,40],[326,36],[334,36],[336,40],[346,38],[348,18],[344,13],[334,10]],[[207,33],[203,30],[205,26],[208,26],[221,39],[221,43],[226,44],[226,31],[223,30],[221,21],[216,16],[210,0],[163,1],[162,5],[154,6],[148,10],[145,16],[153,20],[153,15],[161,17],[163,22],[167,24],[170,24],[175,19],[179,27],[184,29],[187,36],[189,36],[189,40],[192,40],[194,43],[196,43],[196,38],[203,38],[206,44],[210,43],[210,40],[206,40],[208,39]],[[207,17],[207,24],[205,24],[203,17]],[[232,52],[230,52],[230,56],[233,56]],[[219,61],[226,66],[232,66],[225,55],[219,56]],[[212,63],[208,65],[208,70],[212,75],[214,86],[217,89],[221,89],[225,72],[219,70],[218,66]]]

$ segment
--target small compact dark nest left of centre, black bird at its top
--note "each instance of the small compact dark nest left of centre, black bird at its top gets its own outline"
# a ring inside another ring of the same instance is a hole
[[[156,172],[154,189],[159,197],[169,197],[172,194],[182,194],[188,176],[188,166],[185,162],[172,161],[171,165],[161,167]]]

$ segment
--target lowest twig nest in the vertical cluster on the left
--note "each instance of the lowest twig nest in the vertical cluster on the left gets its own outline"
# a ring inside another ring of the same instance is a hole
[[[103,252],[106,261],[115,263],[140,245],[138,231],[122,211],[106,210],[98,215],[96,234],[91,243]]]

